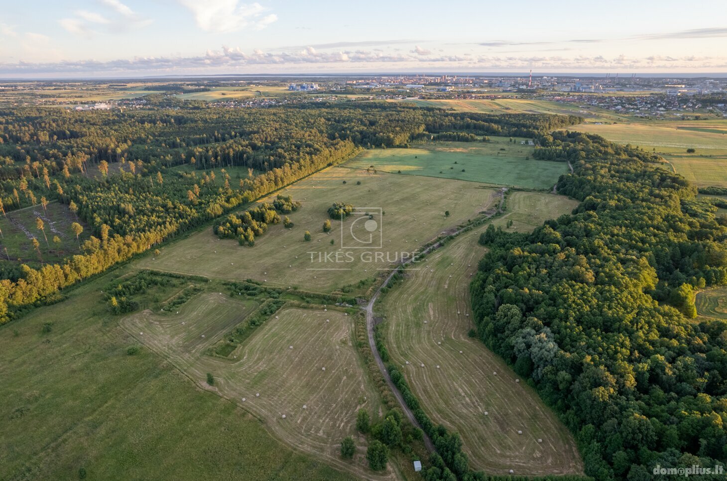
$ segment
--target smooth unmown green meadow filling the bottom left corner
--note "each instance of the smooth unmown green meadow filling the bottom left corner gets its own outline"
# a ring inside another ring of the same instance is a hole
[[[0,327],[0,479],[350,479],[149,349],[127,355],[110,276]]]

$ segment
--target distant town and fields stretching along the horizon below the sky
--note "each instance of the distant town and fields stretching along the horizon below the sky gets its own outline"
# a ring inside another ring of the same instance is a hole
[[[42,91],[42,95],[37,95]],[[55,93],[57,92],[57,93]],[[727,116],[727,79],[600,77],[374,75],[300,79],[222,76],[190,79],[0,82],[0,105],[60,105],[76,111],[144,108],[160,100],[214,103],[221,108],[270,107],[344,100],[495,100],[523,98],[601,108],[634,116]]]

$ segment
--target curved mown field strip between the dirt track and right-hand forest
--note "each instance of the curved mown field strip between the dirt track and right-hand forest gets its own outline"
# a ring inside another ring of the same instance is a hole
[[[510,217],[530,217],[529,226],[515,220],[510,228],[530,231],[575,204],[553,194],[515,192],[507,200],[509,213],[497,221],[505,228]],[[565,426],[533,389],[515,381],[518,375],[502,359],[467,335],[473,327],[469,285],[486,252],[478,245],[486,228],[458,236],[385,295],[377,313],[387,319],[387,349],[427,415],[462,437],[475,469],[488,474],[514,469],[526,476],[582,473]]]

